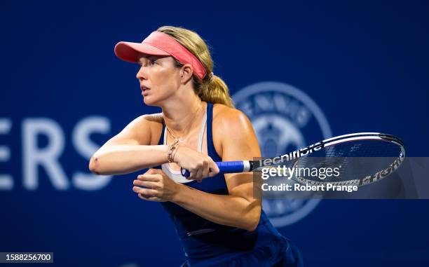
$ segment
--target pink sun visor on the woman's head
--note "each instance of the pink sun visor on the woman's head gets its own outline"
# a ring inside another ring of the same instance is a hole
[[[201,80],[205,77],[206,71],[200,60],[178,41],[163,32],[152,32],[142,43],[116,43],[115,55],[121,60],[137,62],[139,53],[147,55],[171,55],[182,64],[191,64],[193,73]]]

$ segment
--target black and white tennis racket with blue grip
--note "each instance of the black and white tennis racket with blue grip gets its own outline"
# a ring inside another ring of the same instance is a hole
[[[325,139],[303,149],[260,160],[217,162],[221,173],[264,172],[264,168],[288,165],[290,179],[301,184],[357,185],[371,184],[387,177],[400,167],[405,157],[404,143],[393,135],[379,132],[359,132]],[[337,168],[339,176],[314,177],[308,172],[316,168]],[[189,177],[188,170],[181,170]]]

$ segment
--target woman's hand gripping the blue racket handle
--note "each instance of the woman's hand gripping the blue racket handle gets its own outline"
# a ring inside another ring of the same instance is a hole
[[[213,177],[219,173],[219,167],[217,167],[210,156],[189,149],[189,147],[183,145],[177,147],[175,163],[189,170],[191,175],[186,179],[200,180]]]

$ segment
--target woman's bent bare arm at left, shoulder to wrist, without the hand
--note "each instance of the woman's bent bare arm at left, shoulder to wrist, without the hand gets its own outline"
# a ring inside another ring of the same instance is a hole
[[[156,145],[158,140],[155,140],[161,133],[161,119],[161,114],[136,118],[94,153],[90,171],[103,175],[127,174],[167,163],[168,146]]]

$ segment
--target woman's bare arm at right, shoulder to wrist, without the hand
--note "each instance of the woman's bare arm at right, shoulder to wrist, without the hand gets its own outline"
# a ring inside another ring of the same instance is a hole
[[[222,107],[213,121],[213,135],[222,145],[223,161],[261,156],[252,124],[241,111]],[[252,172],[224,175],[229,195],[215,195],[178,184],[171,201],[217,224],[254,231],[261,215],[261,199],[253,196]]]

